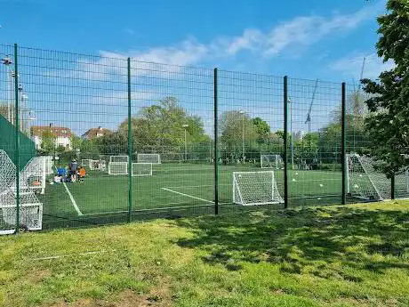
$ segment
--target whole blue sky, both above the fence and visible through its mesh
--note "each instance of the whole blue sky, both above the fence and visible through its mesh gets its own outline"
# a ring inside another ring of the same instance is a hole
[[[366,57],[364,77],[377,77],[381,70],[388,69],[392,65],[382,63],[381,59],[377,58],[374,48],[377,41],[376,16],[385,12],[384,0],[369,2],[365,0],[127,0],[116,2],[0,0],[0,4],[2,5],[0,44],[18,43],[27,47],[118,59],[131,57],[133,61],[210,69],[218,67],[273,76],[288,75],[309,80],[319,78],[323,81],[349,83],[359,78],[364,57]],[[91,75],[95,79],[93,83],[89,81],[90,74],[81,76],[65,74],[62,77],[71,78],[71,81],[76,78],[79,80],[80,89],[87,84],[100,91],[98,93],[93,91],[93,96],[81,96],[83,100],[81,103],[89,105],[85,113],[91,112],[92,106],[96,104],[101,106],[100,112],[95,111],[92,118],[89,116],[85,118],[84,109],[73,107],[73,104],[78,102],[77,97],[82,90],[77,88],[72,95],[62,96],[59,94],[62,87],[72,86],[72,82],[64,84],[61,81],[63,78],[59,75],[60,87],[53,88],[48,85],[48,82],[56,82],[52,80],[56,72],[50,69],[36,69],[38,76],[30,72],[26,74],[26,80],[24,76],[21,77],[27,84],[30,101],[33,104],[36,103],[33,107],[38,117],[36,124],[45,125],[50,121],[59,122],[60,125],[70,124],[77,133],[83,133],[87,128],[100,123],[105,126],[108,123],[109,128],[117,126],[124,118],[126,96],[124,91],[108,86],[108,82],[112,80],[103,77],[103,74],[108,71],[100,71],[103,68],[100,64],[105,65],[106,61],[85,56],[64,55],[64,57],[77,61],[76,65],[69,68],[65,66],[65,69],[78,70],[92,65],[92,69],[98,67],[97,73]],[[123,64],[121,62],[119,66]],[[140,65],[140,67],[150,69],[150,66]],[[180,69],[171,70],[172,77],[177,79]],[[22,71],[21,74],[24,74],[24,68]],[[117,70],[113,73],[122,75],[122,72]],[[27,79],[28,75],[31,75],[31,79]],[[135,81],[140,85],[132,87],[132,91],[137,96],[135,103],[138,104],[140,101],[141,104],[148,105],[150,103],[148,101],[155,101],[164,94],[169,94],[166,92],[166,86],[155,90],[155,86],[148,85],[147,74],[140,74],[135,70],[135,75],[135,80],[145,77],[141,83],[138,80]],[[44,77],[50,80],[44,81]],[[163,76],[156,74],[156,77]],[[201,79],[201,82],[203,80],[205,79]],[[207,81],[209,80],[211,81],[212,78],[208,77]],[[188,84],[188,81],[186,79],[185,83]],[[245,80],[244,89],[240,90],[243,93],[230,96],[228,94],[223,96],[221,93],[221,109],[223,109],[223,103],[226,107],[231,107],[231,100],[240,104],[237,101],[247,97],[246,102],[238,105],[237,109],[244,109],[251,116],[261,116],[266,113],[267,106],[263,109],[261,102],[263,97],[268,95],[266,91],[256,89],[252,93],[245,93],[245,84],[251,85],[252,82],[254,82],[252,77]],[[267,84],[271,80],[265,78],[262,82]],[[43,87],[39,84],[43,84]],[[163,85],[169,84],[170,81],[163,82]],[[45,88],[45,85],[48,87]],[[178,87],[177,80],[172,86]],[[313,86],[314,81],[311,81],[309,93],[303,94],[301,92],[305,91],[305,88],[300,85],[298,86],[300,97],[297,97],[297,93],[293,94],[293,101],[300,103],[299,114],[295,112],[295,119],[293,119],[294,129],[304,129],[305,113],[309,107]],[[317,100],[322,97],[323,102],[321,108],[314,111],[316,114],[320,112],[320,118],[329,118],[337,108],[339,100],[339,93],[328,93],[328,88],[331,86],[326,85],[326,87],[326,90],[317,93]],[[226,88],[229,88],[229,85],[226,85]],[[294,85],[294,88],[297,86]],[[196,104],[197,107],[192,109],[192,113],[205,117],[209,122],[205,125],[210,126],[212,93],[211,88],[208,90],[206,92],[204,88],[190,88],[189,92],[183,92],[177,88],[173,92],[179,93],[182,104],[186,103],[186,106],[188,103]],[[259,92],[256,93],[257,91]],[[202,96],[198,98],[195,95],[197,92],[202,93]],[[277,107],[269,110],[271,114],[266,119],[269,120],[270,125],[279,127],[280,123],[277,124],[277,121],[281,119],[277,118],[281,118],[282,115],[280,104],[282,97],[279,91],[277,95],[269,94],[276,97]],[[187,98],[194,95],[194,100]],[[331,95],[333,98],[329,98]],[[96,96],[99,97],[98,102],[95,102]],[[183,97],[187,101],[183,101]],[[107,102],[104,103],[102,98]],[[117,110],[112,112],[112,108],[109,107],[111,101],[122,105],[120,112]],[[254,107],[255,103],[258,103],[258,108]],[[64,109],[64,106],[68,109]],[[250,110],[253,110],[253,114],[250,114]],[[102,114],[109,112],[115,113],[114,116],[106,117]],[[297,121],[299,125],[296,124]],[[325,125],[325,123],[316,122],[313,128]]]

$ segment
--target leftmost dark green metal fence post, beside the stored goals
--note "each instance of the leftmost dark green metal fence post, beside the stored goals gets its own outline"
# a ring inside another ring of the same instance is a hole
[[[19,233],[20,230],[20,132],[19,132],[19,65],[17,60],[18,46],[14,44],[14,94],[15,94],[15,106],[14,106],[14,137],[15,137],[15,151],[14,160],[16,165],[16,225],[15,233]]]

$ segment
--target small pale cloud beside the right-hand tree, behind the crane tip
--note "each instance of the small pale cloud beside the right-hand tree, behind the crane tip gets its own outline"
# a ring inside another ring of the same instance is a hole
[[[392,69],[395,66],[393,61],[387,61],[384,63],[376,53],[371,53],[368,55],[360,54],[340,59],[333,62],[333,64],[330,65],[330,68],[341,72],[344,77],[359,79],[364,58],[364,78],[377,78],[382,71]]]

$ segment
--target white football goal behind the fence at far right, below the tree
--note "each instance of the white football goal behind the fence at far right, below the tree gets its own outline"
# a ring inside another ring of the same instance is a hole
[[[350,197],[365,200],[391,198],[391,182],[386,174],[376,169],[373,158],[356,153],[347,155],[347,181]],[[396,198],[409,198],[409,173],[407,170],[395,175]]]

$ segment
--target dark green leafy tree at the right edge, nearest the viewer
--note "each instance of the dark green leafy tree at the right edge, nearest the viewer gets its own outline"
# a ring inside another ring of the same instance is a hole
[[[383,61],[395,67],[384,71],[379,81],[362,80],[371,94],[366,100],[371,116],[365,126],[373,138],[373,157],[382,161],[380,168],[391,177],[409,166],[409,4],[406,0],[389,0],[389,12],[378,18],[376,48]]]

